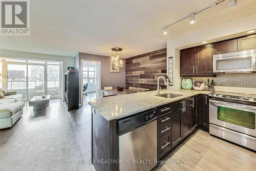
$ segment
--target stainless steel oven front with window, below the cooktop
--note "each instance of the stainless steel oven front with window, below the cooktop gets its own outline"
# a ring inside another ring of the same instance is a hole
[[[256,150],[256,106],[210,99],[210,134]]]

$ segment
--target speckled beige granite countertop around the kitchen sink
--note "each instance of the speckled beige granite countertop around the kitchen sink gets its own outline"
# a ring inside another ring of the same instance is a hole
[[[120,119],[129,115],[133,115],[156,106],[181,100],[187,97],[209,94],[208,91],[195,90],[161,90],[163,93],[175,93],[182,96],[175,98],[163,98],[156,95],[156,91],[147,91],[141,93],[132,93],[118,96],[103,97],[91,100],[89,104],[93,109],[97,110],[106,120]]]

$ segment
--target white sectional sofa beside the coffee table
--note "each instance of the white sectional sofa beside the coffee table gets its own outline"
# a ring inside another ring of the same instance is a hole
[[[17,92],[5,92],[4,96],[0,99],[0,129],[12,127],[22,117],[25,106]]]

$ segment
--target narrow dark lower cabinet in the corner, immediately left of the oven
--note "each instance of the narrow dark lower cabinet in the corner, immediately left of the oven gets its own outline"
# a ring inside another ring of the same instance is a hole
[[[200,128],[209,132],[209,97],[200,95]]]

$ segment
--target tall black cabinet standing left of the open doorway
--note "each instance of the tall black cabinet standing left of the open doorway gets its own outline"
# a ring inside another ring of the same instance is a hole
[[[79,109],[79,72],[65,73],[65,103],[67,110]]]

